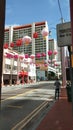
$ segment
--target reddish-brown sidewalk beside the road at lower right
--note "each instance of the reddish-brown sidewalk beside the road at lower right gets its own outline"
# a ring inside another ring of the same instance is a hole
[[[36,130],[73,130],[72,102],[67,101],[65,88]]]

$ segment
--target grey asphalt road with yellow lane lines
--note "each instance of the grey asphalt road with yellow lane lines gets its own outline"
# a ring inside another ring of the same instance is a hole
[[[53,100],[54,87],[50,83],[7,88],[2,91],[0,129],[26,130]]]

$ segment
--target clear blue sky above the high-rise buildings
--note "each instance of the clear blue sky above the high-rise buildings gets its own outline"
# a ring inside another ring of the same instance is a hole
[[[59,0],[62,17],[70,21],[69,0]],[[25,25],[47,21],[55,35],[56,25],[61,23],[58,0],[6,0],[5,26]]]

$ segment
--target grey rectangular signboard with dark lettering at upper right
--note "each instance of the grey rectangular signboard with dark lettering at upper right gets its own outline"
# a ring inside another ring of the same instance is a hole
[[[71,23],[57,24],[57,43],[59,47],[68,46],[72,44],[71,41]]]

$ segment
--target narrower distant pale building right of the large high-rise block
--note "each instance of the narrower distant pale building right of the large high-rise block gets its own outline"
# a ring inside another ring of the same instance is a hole
[[[48,72],[54,72],[58,77],[61,75],[61,57],[60,57],[60,48],[57,46],[57,41],[55,39],[49,39],[49,49],[52,51],[52,54],[49,56],[51,63],[48,66]]]

